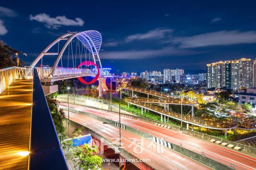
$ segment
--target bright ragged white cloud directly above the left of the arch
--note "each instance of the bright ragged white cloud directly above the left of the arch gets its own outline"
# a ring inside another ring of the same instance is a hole
[[[35,20],[45,24],[47,28],[58,29],[62,26],[83,26],[84,20],[81,18],[75,18],[71,20],[66,18],[66,16],[56,16],[55,18],[50,17],[50,15],[41,13],[35,16],[29,16],[30,21]]]

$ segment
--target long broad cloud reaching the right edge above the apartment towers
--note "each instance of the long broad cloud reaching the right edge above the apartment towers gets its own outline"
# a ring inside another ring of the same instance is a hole
[[[240,32],[238,30],[210,32],[191,37],[174,38],[172,43],[180,44],[180,48],[204,47],[212,45],[233,45],[256,43],[256,32]]]

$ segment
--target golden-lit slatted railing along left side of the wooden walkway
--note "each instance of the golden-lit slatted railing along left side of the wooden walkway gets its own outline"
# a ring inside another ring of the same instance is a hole
[[[8,67],[0,69],[0,93],[2,93],[16,79],[28,79],[32,77],[32,68]]]

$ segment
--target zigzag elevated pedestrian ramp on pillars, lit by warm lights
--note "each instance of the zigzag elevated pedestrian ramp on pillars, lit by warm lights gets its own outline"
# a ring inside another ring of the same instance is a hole
[[[147,89],[139,89],[136,87],[128,86],[128,85],[120,85],[118,86],[120,89],[120,97],[122,98],[122,90],[125,90],[125,93],[130,96],[130,98],[126,98],[126,102],[128,104],[136,105],[141,107],[142,114],[143,109],[152,111],[154,113],[158,113],[161,116],[161,121],[165,122],[170,118],[175,119],[177,121],[182,121],[187,124],[187,129],[189,128],[189,124],[193,126],[198,126],[199,128],[209,128],[209,129],[216,129],[216,130],[225,130],[225,136],[227,136],[227,130],[234,129],[234,133],[236,133],[237,122],[235,119],[228,119],[226,121],[216,121],[216,120],[206,120],[203,118],[198,118],[194,116],[194,105],[197,105],[196,100],[189,100],[187,98],[181,97],[173,97],[170,94],[163,94],[157,91],[147,90]],[[134,98],[134,91],[143,93],[148,95],[147,98]],[[154,98],[150,98],[153,96]],[[191,115],[189,113],[176,113],[174,111],[170,111],[169,104],[171,105],[188,105],[191,106]]]

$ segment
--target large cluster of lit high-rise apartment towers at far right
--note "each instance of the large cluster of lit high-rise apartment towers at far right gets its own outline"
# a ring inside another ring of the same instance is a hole
[[[207,87],[233,90],[254,87],[254,65],[252,59],[246,58],[207,64]]]

